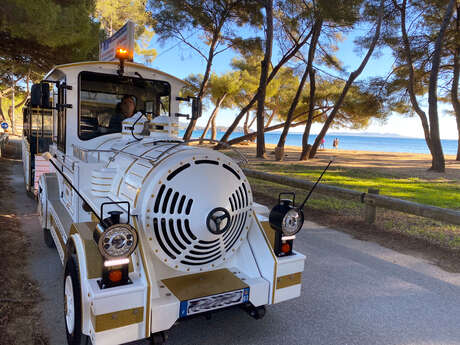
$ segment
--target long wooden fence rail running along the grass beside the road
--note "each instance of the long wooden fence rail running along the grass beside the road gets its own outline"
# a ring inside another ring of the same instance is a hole
[[[313,182],[300,180],[293,177],[274,175],[262,171],[243,169],[248,177],[278,183],[294,188],[310,190]],[[374,193],[363,193],[355,190],[320,184],[316,191],[321,194],[333,196],[339,199],[353,200],[366,204],[367,207],[382,207],[394,211],[413,214],[420,217],[436,219],[442,222],[460,225],[460,211],[431,205],[424,205],[413,201],[397,199]],[[375,217],[374,217],[375,219]],[[371,221],[372,222],[372,221]]]

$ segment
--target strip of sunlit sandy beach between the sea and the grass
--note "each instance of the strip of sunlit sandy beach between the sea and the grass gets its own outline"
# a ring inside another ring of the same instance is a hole
[[[255,158],[256,145],[236,145],[235,148],[245,154],[251,163],[257,161],[276,162],[274,149],[276,145],[266,144],[267,158]],[[372,151],[347,151],[325,149],[319,150],[316,158],[300,162],[301,148],[286,146],[285,158],[278,164],[305,164],[306,166],[325,166],[329,160],[334,160],[336,167],[357,169],[372,169],[389,175],[400,177],[418,177],[426,180],[454,180],[460,181],[460,162],[454,155],[445,155],[446,172],[437,173],[428,171],[431,166],[431,155],[419,153],[372,152]]]

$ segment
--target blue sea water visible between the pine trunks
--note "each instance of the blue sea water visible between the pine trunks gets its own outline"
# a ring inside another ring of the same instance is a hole
[[[201,131],[194,131],[193,138],[199,138]],[[180,135],[184,130],[180,131]],[[223,136],[224,132],[217,133],[217,140]],[[232,133],[230,139],[242,136],[243,133]],[[280,133],[265,133],[265,143],[277,144]],[[208,132],[207,138],[210,138]],[[326,135],[324,147],[332,149],[332,142],[335,138],[339,139],[339,150],[357,150],[357,151],[375,151],[375,152],[407,152],[407,153],[430,153],[425,139],[419,138],[402,138],[402,137],[377,137],[377,136],[359,136],[359,135]],[[310,135],[309,143],[313,144],[316,135]],[[441,140],[442,149],[446,155],[457,154],[457,140]],[[302,146],[302,133],[290,133],[286,138],[286,145]]]

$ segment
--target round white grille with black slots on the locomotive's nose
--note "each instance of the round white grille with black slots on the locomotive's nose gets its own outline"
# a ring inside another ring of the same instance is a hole
[[[181,162],[159,180],[149,200],[144,217],[152,249],[177,270],[215,267],[244,241],[251,206],[249,183],[234,163],[208,156]],[[216,208],[227,211],[230,223],[220,234],[207,225]]]

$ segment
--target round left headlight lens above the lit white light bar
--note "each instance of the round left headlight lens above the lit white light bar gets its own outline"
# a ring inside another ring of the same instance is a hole
[[[129,224],[115,224],[100,234],[97,245],[107,260],[131,255],[137,246],[137,232]]]

